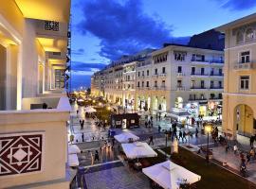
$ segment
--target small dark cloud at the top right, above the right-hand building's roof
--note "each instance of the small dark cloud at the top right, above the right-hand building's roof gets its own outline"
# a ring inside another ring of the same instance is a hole
[[[215,0],[222,3],[222,8],[230,10],[245,10],[256,6],[255,0]]]

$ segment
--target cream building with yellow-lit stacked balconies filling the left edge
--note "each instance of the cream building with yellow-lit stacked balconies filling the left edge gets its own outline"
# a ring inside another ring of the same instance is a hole
[[[62,94],[69,9],[69,0],[1,4],[1,188],[69,187],[70,105]]]

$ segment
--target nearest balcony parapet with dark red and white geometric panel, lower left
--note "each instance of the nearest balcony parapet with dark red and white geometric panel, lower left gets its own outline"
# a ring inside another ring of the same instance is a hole
[[[61,184],[67,188],[69,181],[65,178],[65,165],[68,160],[66,124],[71,112],[68,98],[24,98],[22,105],[21,111],[0,111],[1,140],[6,138],[7,141],[12,141],[11,144],[2,143],[6,149],[9,148],[7,157],[17,157],[17,160],[27,157],[27,161],[22,162],[22,167],[16,166],[20,161],[9,164],[9,176],[0,178],[1,186],[15,188],[14,186],[19,185],[20,188],[27,188],[26,184],[29,183],[31,187],[51,188],[50,183],[46,185],[46,182],[58,180],[56,185]],[[12,153],[11,149],[16,147],[15,144],[18,144],[19,150]],[[11,167],[16,167],[15,171]],[[13,182],[14,176],[16,177]],[[37,182],[37,185],[31,182]]]

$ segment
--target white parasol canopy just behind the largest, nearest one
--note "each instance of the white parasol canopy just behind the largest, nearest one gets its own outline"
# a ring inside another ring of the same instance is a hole
[[[123,152],[129,159],[151,158],[157,156],[153,148],[149,146],[147,143],[136,142],[121,144],[121,146]]]

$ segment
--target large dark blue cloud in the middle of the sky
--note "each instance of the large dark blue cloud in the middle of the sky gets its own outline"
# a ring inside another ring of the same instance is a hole
[[[148,47],[160,47],[172,39],[173,26],[143,13],[141,0],[92,0],[83,4],[83,18],[77,25],[101,40],[99,54],[117,60]]]

